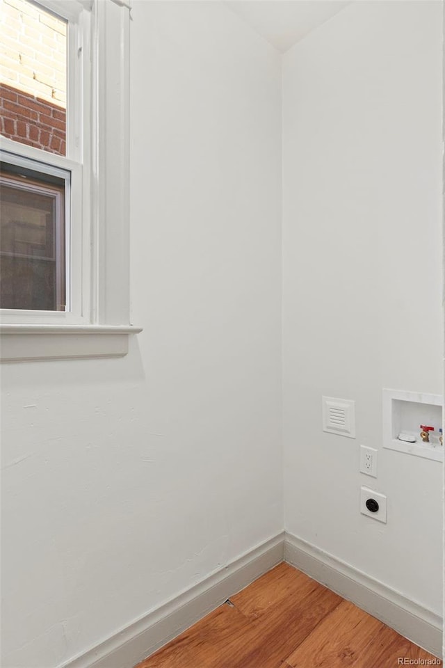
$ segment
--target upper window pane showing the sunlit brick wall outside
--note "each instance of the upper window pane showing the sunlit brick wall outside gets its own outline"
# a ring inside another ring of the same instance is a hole
[[[28,0],[3,0],[0,132],[66,154],[67,22]]]

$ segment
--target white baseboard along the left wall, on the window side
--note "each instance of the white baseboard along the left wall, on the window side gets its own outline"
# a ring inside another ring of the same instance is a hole
[[[60,668],[133,668],[227,598],[283,561],[284,532]]]

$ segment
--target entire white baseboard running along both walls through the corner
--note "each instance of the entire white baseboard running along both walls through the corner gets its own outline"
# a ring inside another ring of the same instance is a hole
[[[412,642],[442,655],[442,618],[438,614],[282,532],[60,668],[133,668],[283,559]]]

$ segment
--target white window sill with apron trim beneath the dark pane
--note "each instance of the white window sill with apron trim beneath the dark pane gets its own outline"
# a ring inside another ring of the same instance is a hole
[[[1,324],[1,362],[123,357],[140,327]]]

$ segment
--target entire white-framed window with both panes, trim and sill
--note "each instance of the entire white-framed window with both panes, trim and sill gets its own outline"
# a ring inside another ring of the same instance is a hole
[[[129,325],[129,6],[3,6],[1,358],[122,355],[140,331]]]

